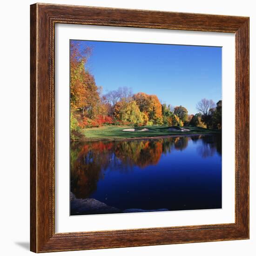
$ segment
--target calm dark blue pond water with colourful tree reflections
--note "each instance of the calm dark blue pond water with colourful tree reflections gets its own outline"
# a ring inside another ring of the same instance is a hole
[[[71,192],[121,210],[218,209],[221,152],[216,135],[74,142]]]

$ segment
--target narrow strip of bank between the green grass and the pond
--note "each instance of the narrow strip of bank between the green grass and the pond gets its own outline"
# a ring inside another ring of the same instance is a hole
[[[154,139],[164,139],[172,137],[190,137],[190,136],[200,136],[200,135],[215,135],[217,133],[197,133],[197,134],[173,134],[173,135],[157,135],[157,136],[147,136],[147,137],[134,137],[134,138],[86,138],[83,140],[75,140],[70,142],[85,142],[85,141],[131,141],[131,140],[154,140]],[[220,133],[221,134],[221,133]]]

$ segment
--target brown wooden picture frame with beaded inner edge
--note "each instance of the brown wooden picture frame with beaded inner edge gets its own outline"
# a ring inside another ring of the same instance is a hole
[[[73,23],[234,33],[236,40],[235,223],[81,233],[54,231],[54,25]],[[33,252],[249,239],[249,18],[31,5],[31,231]]]

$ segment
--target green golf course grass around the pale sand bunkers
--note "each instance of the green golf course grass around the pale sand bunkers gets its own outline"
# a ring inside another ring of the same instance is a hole
[[[190,131],[169,131],[166,126],[143,126],[135,128],[135,132],[126,132],[123,129],[132,128],[128,126],[102,126],[99,128],[85,128],[82,130],[82,134],[85,135],[87,140],[90,139],[127,139],[127,138],[138,138],[138,137],[155,137],[155,136],[166,136],[166,135],[184,135],[184,134],[212,134],[219,133],[217,130],[210,130],[200,127],[183,127],[188,128]],[[136,132],[148,128],[149,131]]]

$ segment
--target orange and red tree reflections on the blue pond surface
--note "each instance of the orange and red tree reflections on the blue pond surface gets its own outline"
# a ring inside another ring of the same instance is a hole
[[[202,158],[221,155],[221,137],[197,135],[150,140],[85,141],[71,143],[70,182],[76,198],[88,198],[107,171],[130,172],[157,165],[162,155],[182,151],[196,143]],[[200,142],[200,143],[199,143]]]

